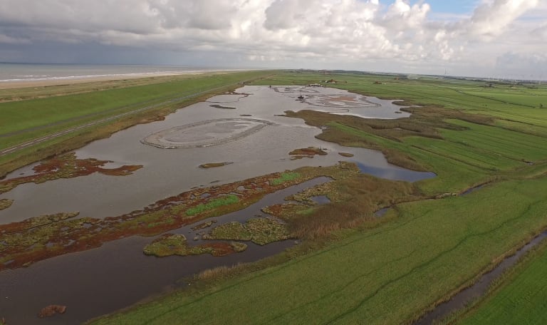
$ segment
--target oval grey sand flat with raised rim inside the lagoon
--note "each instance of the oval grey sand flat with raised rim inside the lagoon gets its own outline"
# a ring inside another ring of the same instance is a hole
[[[140,142],[162,149],[209,147],[245,138],[266,125],[273,123],[254,118],[202,120],[152,133]]]

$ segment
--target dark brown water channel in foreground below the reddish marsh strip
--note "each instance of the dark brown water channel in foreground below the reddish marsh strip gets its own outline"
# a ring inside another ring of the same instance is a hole
[[[197,223],[217,220],[245,220],[264,215],[261,207],[283,202],[283,198],[330,180],[318,177],[308,182],[271,193],[244,210]],[[186,234],[192,239],[194,225],[181,227],[172,233]],[[208,229],[207,229],[208,230]],[[264,246],[246,242],[246,251],[225,257],[208,254],[187,257],[151,257],[143,247],[156,237],[129,237],[103,244],[97,249],[46,259],[31,267],[8,269],[0,273],[0,317],[8,324],[80,324],[108,314],[141,299],[184,287],[179,279],[204,269],[241,262],[254,262],[278,254],[296,244],[294,239]],[[190,242],[189,244],[199,244]],[[38,312],[50,304],[66,305],[66,314],[39,319]]]

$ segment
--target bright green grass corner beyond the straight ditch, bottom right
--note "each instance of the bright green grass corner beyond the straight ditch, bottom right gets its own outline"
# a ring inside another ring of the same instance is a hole
[[[545,246],[545,245],[543,245]],[[531,252],[504,284],[458,324],[547,324],[547,249]]]

